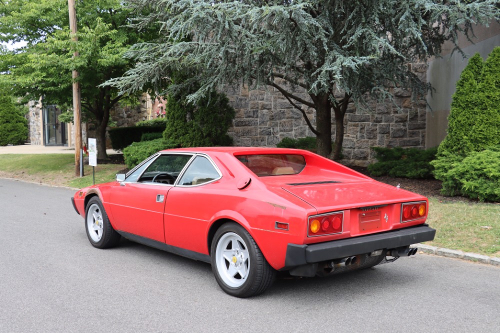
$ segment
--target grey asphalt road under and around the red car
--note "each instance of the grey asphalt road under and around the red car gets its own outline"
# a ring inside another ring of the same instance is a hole
[[[0,179],[0,332],[498,332],[500,268],[417,254],[239,299],[210,266],[88,242],[72,190]]]

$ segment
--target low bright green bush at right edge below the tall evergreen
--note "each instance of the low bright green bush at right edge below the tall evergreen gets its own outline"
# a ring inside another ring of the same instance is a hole
[[[500,201],[500,146],[471,152],[465,158],[451,154],[446,157],[447,170],[436,174],[442,180],[441,193]],[[443,160],[434,162],[436,170]]]

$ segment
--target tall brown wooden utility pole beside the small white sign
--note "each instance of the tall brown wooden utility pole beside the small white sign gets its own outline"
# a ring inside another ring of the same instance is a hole
[[[69,28],[71,30],[72,39],[76,42],[76,9],[74,8],[74,0],[67,0],[69,8]],[[78,52],[74,51],[73,57],[77,57]],[[81,161],[81,120],[80,120],[80,82],[77,82],[78,71],[73,69],[73,123],[74,123],[74,168],[76,176],[83,176],[83,168],[80,168]]]

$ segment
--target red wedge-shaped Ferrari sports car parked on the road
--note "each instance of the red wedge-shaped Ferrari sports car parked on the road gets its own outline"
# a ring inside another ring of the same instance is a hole
[[[72,199],[90,243],[120,236],[210,262],[220,287],[248,297],[276,271],[328,275],[413,255],[432,240],[424,196],[305,150],[159,151]]]

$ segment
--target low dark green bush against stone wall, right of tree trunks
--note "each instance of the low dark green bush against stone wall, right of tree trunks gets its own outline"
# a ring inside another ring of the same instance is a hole
[[[426,150],[401,147],[372,147],[371,149],[375,152],[377,159],[377,162],[368,165],[368,171],[373,176],[433,178],[434,167],[430,161],[435,158],[436,147]]]

